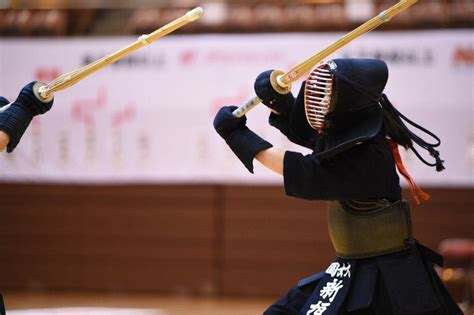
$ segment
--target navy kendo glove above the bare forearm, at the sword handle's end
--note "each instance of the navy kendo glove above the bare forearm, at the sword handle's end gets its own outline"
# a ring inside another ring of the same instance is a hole
[[[252,162],[255,155],[272,145],[245,125],[247,117],[235,117],[232,114],[235,109],[237,106],[222,107],[214,118],[214,128],[249,172],[253,173]]]

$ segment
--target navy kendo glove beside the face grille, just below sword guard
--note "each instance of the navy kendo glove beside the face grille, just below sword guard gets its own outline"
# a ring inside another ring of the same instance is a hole
[[[293,109],[295,98],[293,94],[280,94],[273,89],[270,76],[274,70],[267,70],[255,79],[254,89],[262,103],[277,111],[280,116],[288,117]],[[276,114],[274,114],[276,115]]]

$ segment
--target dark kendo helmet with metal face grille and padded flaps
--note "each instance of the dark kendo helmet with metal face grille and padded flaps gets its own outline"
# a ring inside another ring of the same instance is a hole
[[[384,113],[379,99],[388,68],[378,59],[334,59],[318,65],[303,83],[290,130],[313,139],[322,160],[375,137]]]

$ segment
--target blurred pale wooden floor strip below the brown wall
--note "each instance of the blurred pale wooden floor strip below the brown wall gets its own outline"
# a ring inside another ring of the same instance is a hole
[[[123,315],[127,309],[135,309],[134,312],[129,312],[134,315],[257,315],[262,314],[273,302],[271,299],[216,299],[153,294],[25,293],[7,291],[3,295],[8,315],[114,315],[115,313]],[[87,307],[87,311],[84,311],[84,307]],[[107,310],[104,307],[110,309]],[[57,308],[57,310],[51,308]],[[77,308],[76,311],[74,308]],[[96,308],[95,311],[93,308]],[[37,309],[37,311],[27,311],[28,309]]]

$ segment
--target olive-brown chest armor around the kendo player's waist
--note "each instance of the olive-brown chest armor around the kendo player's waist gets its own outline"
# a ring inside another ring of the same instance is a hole
[[[339,257],[367,258],[409,247],[410,208],[406,201],[329,201],[329,234]]]

